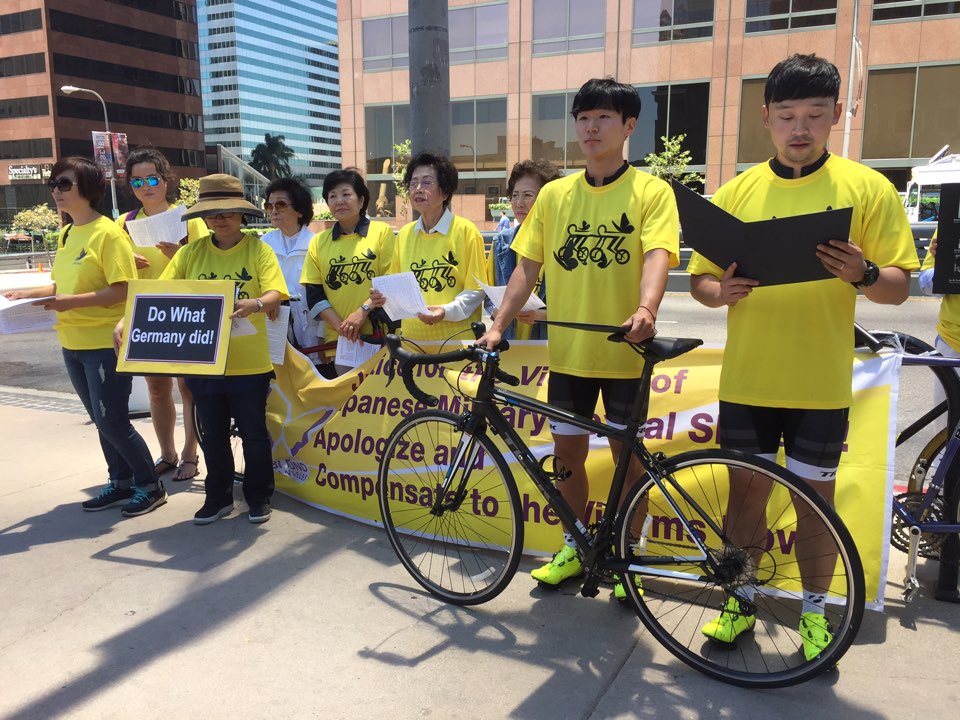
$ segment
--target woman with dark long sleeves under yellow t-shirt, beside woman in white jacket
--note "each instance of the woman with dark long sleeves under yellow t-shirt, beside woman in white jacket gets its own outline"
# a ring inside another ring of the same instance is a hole
[[[393,230],[367,217],[370,190],[356,168],[334,170],[323,180],[323,199],[336,224],[310,241],[300,282],[310,317],[326,323],[326,340],[358,342],[373,334],[367,300],[371,281],[393,261]],[[336,365],[336,375],[353,368]]]

